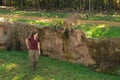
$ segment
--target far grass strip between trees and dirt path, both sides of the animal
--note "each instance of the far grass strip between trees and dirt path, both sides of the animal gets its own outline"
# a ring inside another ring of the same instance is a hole
[[[4,10],[4,9],[0,9],[0,14],[45,17],[45,18],[67,18],[71,16],[71,13],[64,13],[64,12],[37,12],[37,11]],[[84,14],[81,14],[81,16],[83,15]],[[104,21],[120,22],[120,15],[89,14],[88,20],[95,20],[95,21],[104,20]]]

